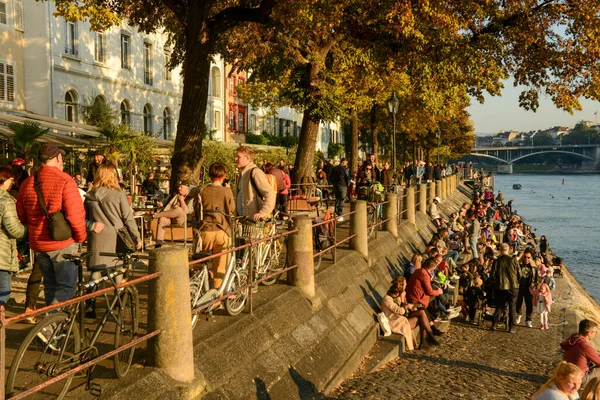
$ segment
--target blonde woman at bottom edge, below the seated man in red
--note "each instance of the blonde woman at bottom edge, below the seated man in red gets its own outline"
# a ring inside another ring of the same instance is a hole
[[[561,362],[552,377],[533,395],[534,400],[573,400],[581,386],[583,372],[575,364]]]

